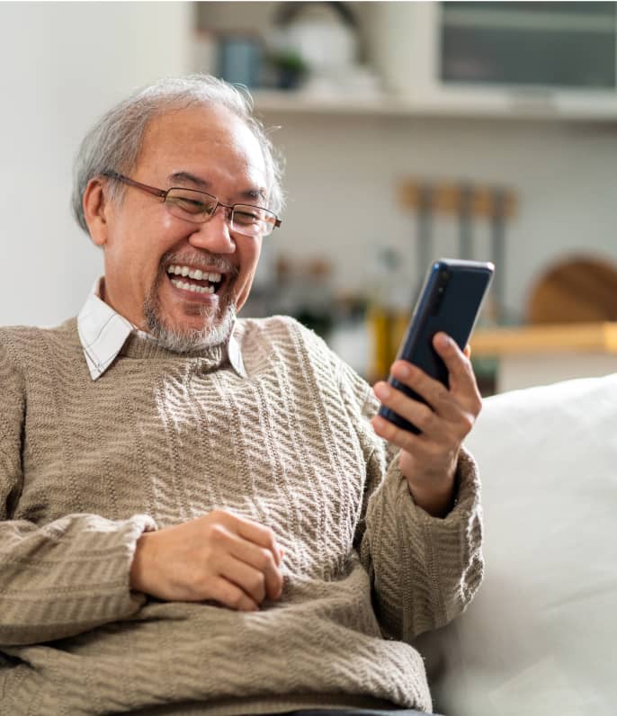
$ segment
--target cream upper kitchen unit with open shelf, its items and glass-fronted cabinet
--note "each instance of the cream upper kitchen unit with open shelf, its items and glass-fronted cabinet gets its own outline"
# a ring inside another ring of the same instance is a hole
[[[264,112],[617,121],[614,2],[197,5]]]

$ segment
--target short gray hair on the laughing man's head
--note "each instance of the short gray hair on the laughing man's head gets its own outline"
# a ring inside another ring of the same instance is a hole
[[[137,164],[148,123],[160,114],[192,104],[220,104],[246,123],[264,154],[269,208],[274,213],[282,210],[282,158],[264,125],[253,116],[250,94],[210,75],[166,77],[112,107],[85,135],[73,169],[71,203],[73,215],[86,233],[83,200],[90,179],[103,172],[130,174]],[[123,184],[112,182],[111,201],[121,201],[124,191]]]

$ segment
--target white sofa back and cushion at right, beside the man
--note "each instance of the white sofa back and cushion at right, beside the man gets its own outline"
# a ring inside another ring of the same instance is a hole
[[[617,713],[617,373],[488,398],[469,436],[487,562],[425,635],[447,716]]]

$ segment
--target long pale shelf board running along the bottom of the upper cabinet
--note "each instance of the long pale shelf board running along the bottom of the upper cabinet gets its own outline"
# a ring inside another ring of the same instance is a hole
[[[421,99],[390,94],[358,96],[276,90],[255,90],[252,94],[258,112],[617,123],[617,94],[610,93],[470,87],[447,89]]]

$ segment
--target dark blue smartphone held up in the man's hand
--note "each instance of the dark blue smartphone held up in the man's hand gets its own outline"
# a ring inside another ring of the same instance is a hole
[[[413,363],[448,387],[448,369],[433,347],[436,333],[447,333],[463,350],[478,319],[482,301],[495,267],[488,262],[440,259],[429,268],[407,333],[398,350],[398,359]],[[425,399],[389,376],[388,382],[409,398]],[[380,416],[394,425],[418,434],[420,431],[389,407],[380,407]]]

